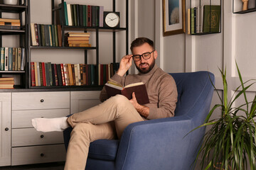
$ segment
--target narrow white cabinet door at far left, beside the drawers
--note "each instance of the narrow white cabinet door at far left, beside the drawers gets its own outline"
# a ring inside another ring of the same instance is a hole
[[[11,93],[0,93],[0,166],[11,165]]]

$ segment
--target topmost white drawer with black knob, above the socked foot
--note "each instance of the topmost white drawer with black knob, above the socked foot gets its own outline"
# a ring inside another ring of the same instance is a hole
[[[26,92],[12,94],[12,110],[70,108],[70,92]]]

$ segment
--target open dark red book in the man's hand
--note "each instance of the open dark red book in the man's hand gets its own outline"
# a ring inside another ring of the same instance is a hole
[[[134,92],[139,104],[144,105],[149,103],[149,96],[146,92],[146,86],[142,82],[121,86],[113,81],[107,81],[105,84],[105,89],[108,97],[122,94],[130,100],[132,99],[132,92]]]

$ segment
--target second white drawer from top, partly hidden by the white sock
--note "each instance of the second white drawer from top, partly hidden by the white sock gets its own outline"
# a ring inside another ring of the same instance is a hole
[[[33,128],[33,118],[60,118],[70,114],[70,109],[12,111],[12,128]]]

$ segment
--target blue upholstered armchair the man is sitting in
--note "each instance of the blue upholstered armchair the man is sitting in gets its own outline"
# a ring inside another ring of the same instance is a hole
[[[206,119],[215,78],[210,72],[171,75],[178,89],[175,116],[132,123],[121,140],[91,142],[86,170],[192,169],[205,128],[190,131]],[[63,132],[66,149],[71,130]]]

